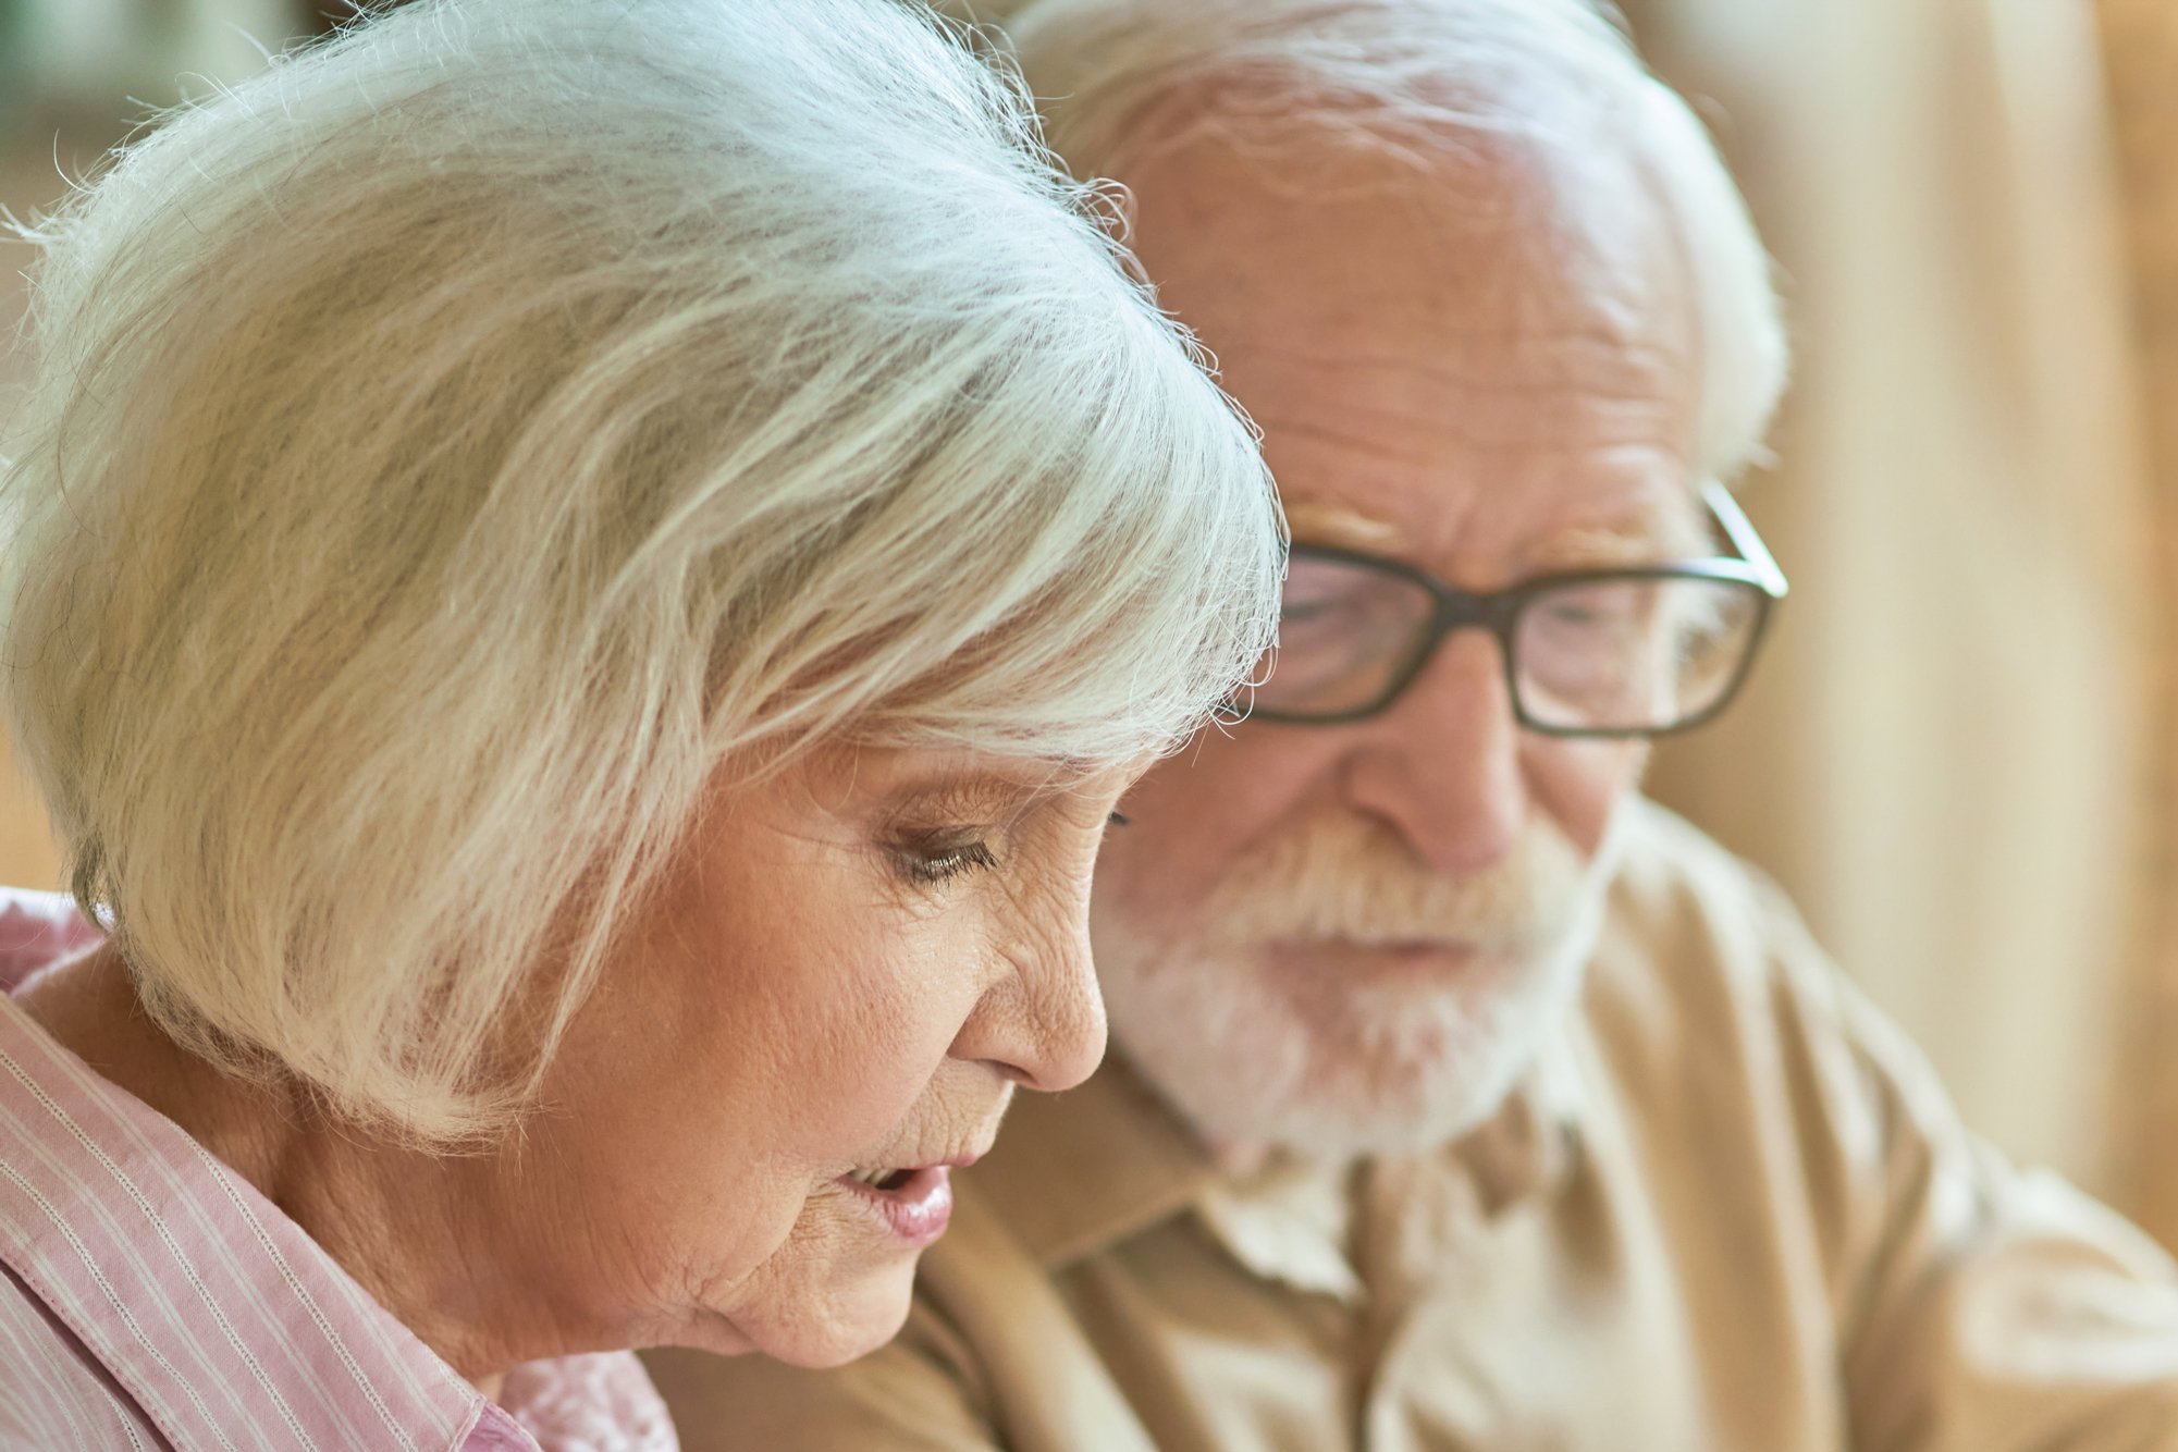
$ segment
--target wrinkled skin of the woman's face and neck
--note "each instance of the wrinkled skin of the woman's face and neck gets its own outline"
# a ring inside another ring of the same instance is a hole
[[[967,1160],[1096,1067],[1087,886],[1135,768],[821,751],[719,786],[503,1145],[433,1156],[185,1056],[113,949],[26,1006],[270,1195],[479,1387],[682,1343],[828,1365],[917,1250],[839,1178]]]

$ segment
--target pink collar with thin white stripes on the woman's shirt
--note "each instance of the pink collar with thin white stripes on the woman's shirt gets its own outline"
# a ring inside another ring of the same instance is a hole
[[[7,995],[0,1260],[174,1445],[285,1428],[294,1445],[536,1448],[301,1226]]]

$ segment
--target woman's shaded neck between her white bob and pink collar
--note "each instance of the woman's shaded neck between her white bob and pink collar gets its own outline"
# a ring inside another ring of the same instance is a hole
[[[152,1023],[111,945],[46,973],[15,1001],[100,1078],[248,1180],[486,1395],[516,1361],[547,1354],[531,1337],[549,1308],[510,1315],[516,1297],[503,1295],[538,1278],[516,1273],[505,1254],[497,1156],[399,1147],[329,1123],[298,1086],[222,1073]],[[521,1326],[523,1345],[494,1326]]]

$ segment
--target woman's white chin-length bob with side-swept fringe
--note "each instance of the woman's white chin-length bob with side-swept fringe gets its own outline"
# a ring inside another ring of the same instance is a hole
[[[1196,729],[1281,525],[1100,211],[897,0],[425,0],[120,152],[0,644],[159,1025],[492,1134],[714,773]]]

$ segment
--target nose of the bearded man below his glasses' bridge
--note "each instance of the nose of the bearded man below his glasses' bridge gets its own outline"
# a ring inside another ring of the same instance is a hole
[[[1512,851],[1529,801],[1505,657],[1488,631],[1448,636],[1405,694],[1355,729],[1350,805],[1396,827],[1433,871],[1475,873]]]

